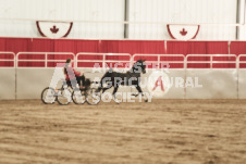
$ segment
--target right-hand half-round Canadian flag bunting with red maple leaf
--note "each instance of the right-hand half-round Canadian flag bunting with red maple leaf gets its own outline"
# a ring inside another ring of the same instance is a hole
[[[177,40],[190,40],[196,38],[199,33],[200,25],[168,24],[167,27],[171,38]]]

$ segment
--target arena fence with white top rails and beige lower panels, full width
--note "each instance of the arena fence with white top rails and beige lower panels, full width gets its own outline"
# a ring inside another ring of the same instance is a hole
[[[30,58],[32,56],[32,58]],[[59,58],[58,58],[59,56]],[[74,66],[86,72],[94,79],[103,73],[91,73],[91,64],[100,63],[109,68],[109,63],[133,64],[139,59],[148,59],[148,64],[169,64],[165,73],[170,78],[198,78],[200,88],[171,87],[163,99],[244,99],[246,98],[246,54],[134,54],[128,53],[86,53],[79,52],[0,52],[0,99],[40,99],[41,90],[49,86],[57,63],[67,58]],[[35,64],[38,63],[38,64]],[[89,64],[88,64],[89,63]],[[114,67],[114,65],[111,65]],[[86,67],[86,65],[89,65]],[[153,67],[147,68],[148,77]],[[147,87],[143,88],[148,91]],[[128,87],[124,91],[135,91]]]

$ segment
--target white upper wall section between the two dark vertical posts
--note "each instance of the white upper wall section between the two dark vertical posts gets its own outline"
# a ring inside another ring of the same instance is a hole
[[[236,0],[130,0],[131,22],[235,24]],[[197,39],[235,39],[235,26],[202,25]],[[167,24],[130,25],[130,38],[171,39]]]

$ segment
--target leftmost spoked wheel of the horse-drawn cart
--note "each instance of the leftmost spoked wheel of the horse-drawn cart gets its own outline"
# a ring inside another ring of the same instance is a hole
[[[41,101],[45,104],[53,104],[56,102],[56,91],[53,88],[45,88],[41,92]]]

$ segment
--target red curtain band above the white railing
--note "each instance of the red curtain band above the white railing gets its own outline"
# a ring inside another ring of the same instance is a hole
[[[0,51],[147,54],[246,54],[245,41],[0,38]]]

